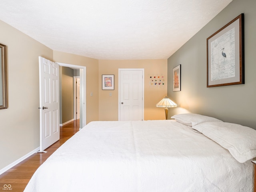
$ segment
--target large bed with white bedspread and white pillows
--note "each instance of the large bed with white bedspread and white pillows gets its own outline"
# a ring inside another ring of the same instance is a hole
[[[198,114],[173,118],[90,122],[36,170],[24,191],[253,191],[256,130]]]

